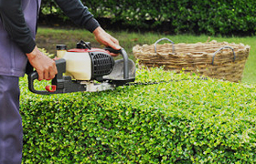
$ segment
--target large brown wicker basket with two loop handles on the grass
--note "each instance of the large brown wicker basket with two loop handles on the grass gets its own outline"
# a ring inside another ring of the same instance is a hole
[[[170,43],[157,45],[162,40]],[[139,65],[165,67],[166,70],[194,72],[197,75],[239,82],[249,56],[250,46],[217,41],[174,44],[162,38],[154,45],[133,46]]]

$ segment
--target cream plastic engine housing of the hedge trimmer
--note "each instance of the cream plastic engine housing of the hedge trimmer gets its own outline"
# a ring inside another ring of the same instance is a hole
[[[65,75],[76,80],[91,80],[91,56],[88,52],[66,52]]]

